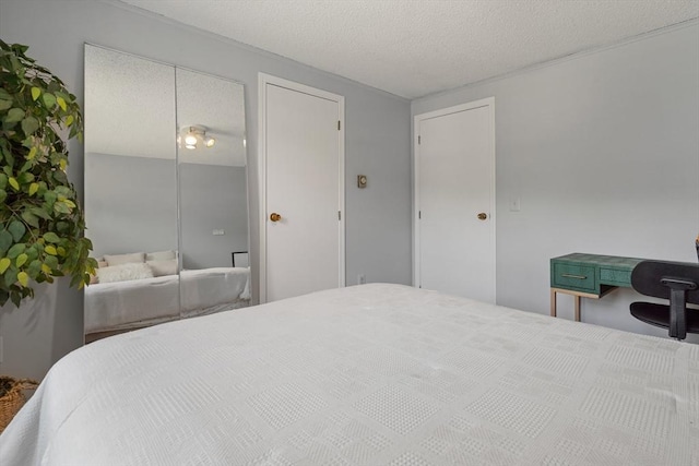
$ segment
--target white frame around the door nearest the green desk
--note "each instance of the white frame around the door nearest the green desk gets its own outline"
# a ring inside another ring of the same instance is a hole
[[[479,100],[470,101],[466,104],[455,105],[453,107],[440,108],[438,110],[428,111],[425,113],[415,115],[413,118],[413,286],[420,286],[420,262],[419,262],[419,126],[424,120],[429,120],[437,117],[443,117],[460,111],[473,110],[475,108],[487,107],[489,110],[489,126],[490,126],[490,205],[489,217],[493,224],[490,230],[490,241],[493,249],[490,251],[490,261],[493,262],[493,290],[497,300],[497,262],[496,262],[496,215],[495,215],[495,97],[486,97]]]

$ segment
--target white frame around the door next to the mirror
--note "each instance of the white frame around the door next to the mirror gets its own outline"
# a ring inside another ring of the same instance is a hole
[[[258,163],[260,184],[260,303],[266,302],[266,86],[272,84],[285,87],[289,91],[308,94],[337,103],[340,130],[337,131],[337,287],[345,286],[345,98],[327,91],[310,87],[304,84],[273,76],[266,73],[258,73]]]

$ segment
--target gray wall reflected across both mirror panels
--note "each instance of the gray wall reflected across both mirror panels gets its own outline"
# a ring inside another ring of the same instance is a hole
[[[232,251],[248,250],[246,178],[245,167],[180,164],[178,246],[175,160],[86,154],[93,256],[180,249],[185,268],[229,267]]]

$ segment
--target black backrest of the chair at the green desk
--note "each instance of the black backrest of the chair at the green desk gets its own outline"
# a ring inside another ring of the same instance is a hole
[[[670,299],[671,288],[661,282],[664,277],[697,284],[687,290],[686,302],[699,304],[699,264],[691,262],[643,261],[631,272],[631,286],[641,295]]]

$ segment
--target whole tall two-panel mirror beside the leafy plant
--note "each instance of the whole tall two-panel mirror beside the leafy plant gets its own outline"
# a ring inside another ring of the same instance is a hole
[[[238,83],[85,45],[86,342],[249,304],[244,109]]]

